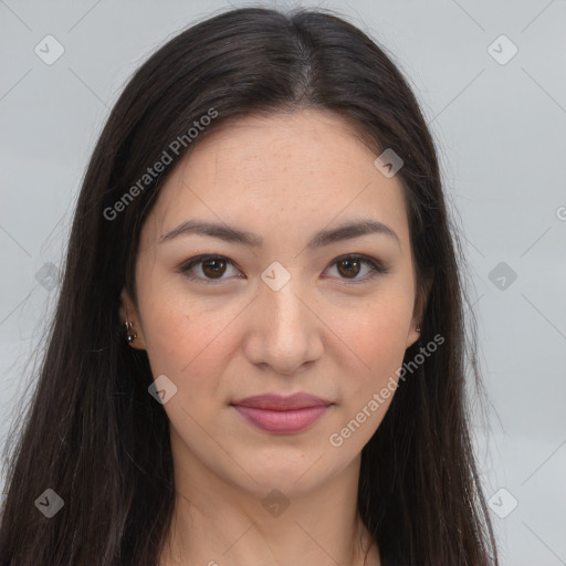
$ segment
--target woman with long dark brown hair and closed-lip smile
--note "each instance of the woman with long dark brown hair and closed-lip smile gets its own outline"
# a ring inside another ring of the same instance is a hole
[[[455,242],[361,31],[249,8],[174,38],[84,179],[0,565],[496,565]]]

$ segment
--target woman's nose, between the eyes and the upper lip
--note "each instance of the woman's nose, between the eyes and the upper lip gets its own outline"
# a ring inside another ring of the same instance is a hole
[[[303,371],[324,350],[324,324],[293,277],[279,291],[260,285],[250,312],[244,353],[250,363],[292,375]],[[312,303],[312,301],[311,301]]]

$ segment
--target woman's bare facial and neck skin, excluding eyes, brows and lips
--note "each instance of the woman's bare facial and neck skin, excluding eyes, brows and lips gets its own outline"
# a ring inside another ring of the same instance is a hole
[[[254,116],[202,138],[164,186],[140,235],[137,308],[123,291],[120,310],[137,333],[132,347],[177,387],[163,406],[178,496],[160,566],[357,566],[368,547],[366,564],[379,564],[356,497],[361,449],[392,396],[342,446],[328,440],[397,380],[419,336],[401,184],[376,157],[332,113]],[[159,243],[192,218],[253,232],[263,244],[198,234]],[[399,241],[374,233],[306,249],[316,231],[360,218],[384,222]],[[389,272],[369,279],[365,263],[339,269],[337,258],[356,253]],[[234,265],[197,264],[200,280],[190,281],[177,268],[198,254]],[[291,275],[279,291],[261,279],[274,261]],[[256,429],[230,406],[296,391],[334,403],[298,433]],[[279,516],[262,505],[273,489],[289,503]]]

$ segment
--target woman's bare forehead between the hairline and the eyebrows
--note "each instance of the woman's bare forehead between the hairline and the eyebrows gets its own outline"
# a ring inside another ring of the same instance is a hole
[[[373,217],[408,239],[402,185],[333,113],[249,116],[195,145],[167,179],[144,227],[146,244],[198,218],[261,234],[301,237]]]

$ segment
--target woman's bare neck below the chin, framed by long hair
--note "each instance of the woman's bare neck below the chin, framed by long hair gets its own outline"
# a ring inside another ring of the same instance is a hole
[[[196,460],[177,459],[177,499],[159,566],[379,565],[357,514],[359,463],[358,457],[316,489],[287,485],[282,493],[242,490]]]

